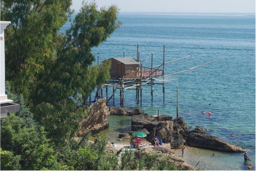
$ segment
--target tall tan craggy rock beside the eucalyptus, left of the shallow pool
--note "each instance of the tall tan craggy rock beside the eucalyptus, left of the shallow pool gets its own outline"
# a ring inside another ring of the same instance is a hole
[[[106,98],[96,101],[87,110],[87,115],[84,117],[83,121],[79,123],[81,129],[76,132],[75,136],[82,137],[88,130],[90,130],[92,134],[96,134],[108,128],[109,123],[106,122],[109,114]]]

